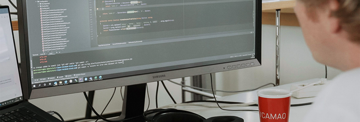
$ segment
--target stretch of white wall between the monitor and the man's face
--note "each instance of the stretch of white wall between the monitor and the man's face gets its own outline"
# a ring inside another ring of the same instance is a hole
[[[262,66],[219,72],[216,74],[216,88],[245,90],[275,83],[275,45],[275,26],[262,25]],[[340,72],[328,67],[328,79]],[[300,27],[281,26],[280,85],[313,78],[325,78],[325,66],[312,58]]]

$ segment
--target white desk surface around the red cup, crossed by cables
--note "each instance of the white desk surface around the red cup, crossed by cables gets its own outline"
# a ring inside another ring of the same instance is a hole
[[[266,89],[274,89],[274,88],[280,88],[280,89],[287,89],[290,90],[290,87],[292,84],[301,84],[301,83],[314,83],[315,81],[319,81],[320,79],[311,79],[311,80],[305,80],[300,81],[296,83],[291,84],[285,84],[280,86],[275,86],[271,88]],[[251,92],[245,92],[245,93],[239,93],[234,95],[229,95],[226,97],[218,98],[217,100],[221,101],[231,101],[231,102],[253,102],[254,100],[257,100],[257,90],[251,91]],[[297,99],[292,97],[291,98],[291,104],[300,104],[300,103],[309,103],[314,102],[313,98],[301,98]],[[199,104],[216,104],[216,103],[199,103]],[[220,104],[221,106],[221,104]],[[289,122],[302,122],[303,117],[306,115],[307,111],[312,107],[312,105],[305,105],[305,106],[299,106],[299,107],[291,107],[290,108],[290,117]],[[194,113],[197,113],[205,118],[213,117],[213,116],[238,116],[245,120],[245,122],[260,122],[259,119],[259,113],[256,111],[224,111],[220,108],[204,108],[204,107],[195,107],[195,106],[179,106],[175,107],[176,109],[182,109],[186,111],[191,111]],[[254,109],[258,110],[258,107],[229,107],[227,109]]]

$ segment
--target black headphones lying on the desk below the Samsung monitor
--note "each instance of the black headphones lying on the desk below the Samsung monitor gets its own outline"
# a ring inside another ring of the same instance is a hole
[[[147,122],[244,122],[244,119],[235,116],[217,116],[205,119],[199,114],[169,109],[151,109],[143,113]]]

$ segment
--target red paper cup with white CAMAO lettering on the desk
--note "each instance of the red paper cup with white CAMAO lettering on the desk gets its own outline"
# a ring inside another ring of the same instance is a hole
[[[259,90],[260,122],[289,122],[291,94],[291,91],[283,89]]]

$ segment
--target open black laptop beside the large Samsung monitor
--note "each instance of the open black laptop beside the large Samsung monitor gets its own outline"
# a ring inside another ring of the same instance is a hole
[[[23,98],[9,6],[0,6],[0,122],[62,122]]]

